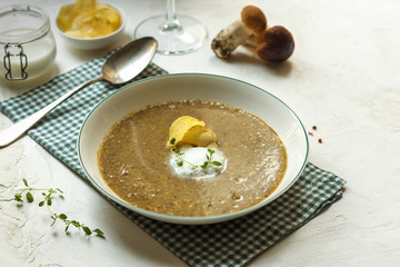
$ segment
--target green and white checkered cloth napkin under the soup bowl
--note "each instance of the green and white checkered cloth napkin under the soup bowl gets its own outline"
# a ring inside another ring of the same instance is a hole
[[[0,109],[18,121],[71,88],[100,75],[108,56],[94,59],[21,96],[0,102]],[[138,78],[166,73],[150,65]],[[84,117],[102,98],[117,89],[92,85],[49,113],[28,135],[84,177],[77,155],[77,138]],[[312,219],[342,195],[344,180],[308,164],[298,181],[277,200],[250,215],[227,222],[184,226],[161,222],[134,214],[114,202],[149,235],[191,266],[242,266]]]

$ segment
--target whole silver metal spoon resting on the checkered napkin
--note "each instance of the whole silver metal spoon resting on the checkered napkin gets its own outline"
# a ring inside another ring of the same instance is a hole
[[[16,141],[22,134],[34,126],[47,113],[59,106],[63,100],[73,96],[82,88],[94,82],[106,80],[113,85],[120,85],[132,80],[137,77],[152,60],[157,52],[158,43],[151,37],[140,38],[131,41],[118,51],[116,51],[106,61],[101,69],[101,76],[89,80],[79,87],[73,88],[56,101],[49,103],[33,115],[19,120],[12,126],[0,130],[0,148],[6,147]]]

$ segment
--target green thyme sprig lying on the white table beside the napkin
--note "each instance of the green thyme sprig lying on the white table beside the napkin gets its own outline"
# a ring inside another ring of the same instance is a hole
[[[96,234],[96,236],[98,237],[104,237],[104,233],[102,230],[100,230],[99,228],[96,228],[94,230],[90,229],[88,226],[79,222],[78,220],[70,220],[68,219],[68,216],[64,215],[64,214],[56,214],[51,210],[50,206],[52,205],[52,197],[57,194],[63,194],[63,191],[59,188],[33,188],[33,187],[30,187],[28,185],[28,181],[27,179],[22,179],[23,181],[23,185],[26,186],[26,188],[19,190],[18,192],[16,192],[14,195],[14,200],[16,201],[19,201],[19,202],[23,202],[23,195],[27,199],[28,202],[33,202],[34,201],[34,198],[33,198],[33,195],[32,192],[33,191],[41,191],[42,194],[42,197],[43,199],[41,201],[39,201],[39,207],[43,207],[46,206],[47,209],[49,210],[50,212],[50,217],[51,219],[53,220],[51,226],[53,226],[56,224],[57,220],[61,220],[66,224],[66,234],[68,234],[68,230],[69,230],[69,227],[72,225],[74,226],[76,228],[78,229],[82,229],[83,233],[88,236],[92,235],[93,233]]]

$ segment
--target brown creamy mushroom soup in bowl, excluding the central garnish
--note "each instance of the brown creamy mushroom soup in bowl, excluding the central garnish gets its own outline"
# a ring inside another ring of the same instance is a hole
[[[206,121],[227,165],[212,178],[181,178],[169,164],[168,136],[180,116]],[[287,168],[278,135],[242,109],[208,100],[147,106],[112,126],[98,151],[109,187],[136,207],[174,216],[234,212],[266,199]]]

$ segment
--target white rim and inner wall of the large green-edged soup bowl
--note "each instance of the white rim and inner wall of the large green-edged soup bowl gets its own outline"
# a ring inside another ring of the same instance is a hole
[[[113,192],[100,175],[97,151],[111,126],[127,113],[147,105],[179,99],[208,99],[228,103],[257,115],[281,138],[288,155],[286,175],[263,201],[232,214],[184,217],[157,214],[130,205]],[[109,199],[149,218],[183,225],[213,224],[252,212],[287,191],[301,175],[309,144],[304,127],[280,99],[247,82],[213,75],[182,73],[143,79],[103,99],[86,118],[78,137],[78,155],[92,185]]]

